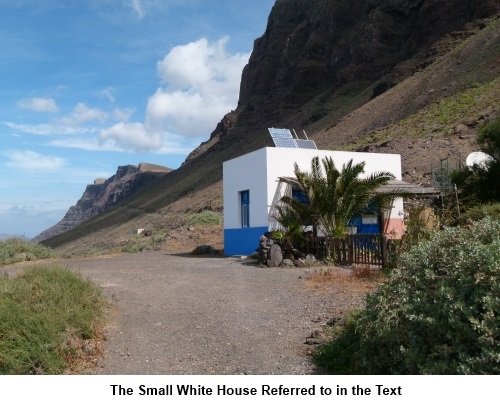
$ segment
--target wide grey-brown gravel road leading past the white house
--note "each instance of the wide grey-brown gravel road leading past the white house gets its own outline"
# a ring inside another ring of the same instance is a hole
[[[148,252],[62,261],[112,303],[97,374],[312,374],[306,338],[353,300],[307,270]]]

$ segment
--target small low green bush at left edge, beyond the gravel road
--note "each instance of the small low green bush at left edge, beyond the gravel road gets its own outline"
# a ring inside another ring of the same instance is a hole
[[[0,241],[0,264],[47,259],[54,256],[55,252],[52,249],[21,238]]]

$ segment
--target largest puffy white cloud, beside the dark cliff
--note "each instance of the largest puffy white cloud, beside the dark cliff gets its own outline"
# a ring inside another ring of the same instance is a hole
[[[158,62],[165,88],[149,99],[147,124],[184,136],[208,135],[238,101],[241,72],[249,54],[231,55],[228,38],[205,38],[176,46]]]

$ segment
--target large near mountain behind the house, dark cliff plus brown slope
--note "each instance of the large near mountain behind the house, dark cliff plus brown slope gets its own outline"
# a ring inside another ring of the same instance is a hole
[[[405,180],[477,148],[500,115],[498,0],[277,0],[242,73],[236,110],[184,164],[45,243],[112,248],[126,231],[169,230],[222,208],[222,162],[304,129],[321,149],[400,153]],[[113,235],[110,241],[110,235]],[[117,242],[118,243],[118,242]]]

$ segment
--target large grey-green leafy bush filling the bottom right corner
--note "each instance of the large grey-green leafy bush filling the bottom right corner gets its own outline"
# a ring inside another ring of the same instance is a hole
[[[351,373],[499,374],[500,221],[445,228],[404,253],[353,322],[318,352],[330,372],[346,368],[328,352],[347,341]]]

